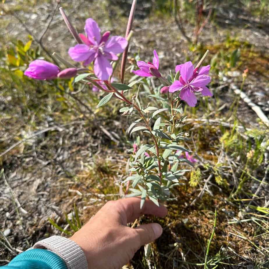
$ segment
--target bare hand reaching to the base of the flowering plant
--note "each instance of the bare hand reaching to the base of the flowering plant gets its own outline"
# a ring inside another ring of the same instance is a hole
[[[140,201],[138,197],[109,201],[70,238],[84,251],[89,269],[119,269],[142,245],[162,234],[162,227],[157,223],[135,229],[127,226],[144,214],[158,217],[167,214],[164,206],[157,207],[150,200],[140,209]]]

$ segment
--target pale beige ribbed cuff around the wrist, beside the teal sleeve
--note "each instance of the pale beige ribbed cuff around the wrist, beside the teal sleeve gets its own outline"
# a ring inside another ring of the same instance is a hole
[[[51,236],[44,240],[37,242],[33,248],[48,249],[58,256],[60,256],[68,269],[87,269],[88,264],[86,256],[74,241],[62,237],[62,236]]]

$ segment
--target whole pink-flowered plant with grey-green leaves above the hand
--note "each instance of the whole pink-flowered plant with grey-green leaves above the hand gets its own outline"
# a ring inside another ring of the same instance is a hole
[[[187,133],[178,132],[178,127],[186,118],[186,116],[180,116],[183,113],[180,101],[184,100],[187,105],[194,107],[197,103],[196,96],[199,93],[203,96],[212,96],[206,87],[210,82],[208,75],[210,66],[201,66],[208,52],[196,67],[190,61],[177,65],[175,73],[170,72],[166,78],[159,71],[159,57],[156,50],[153,52],[152,63],[137,61],[139,69],[132,71],[135,75],[156,77],[163,84],[160,90],[161,95],[149,95],[151,98],[160,100],[162,107],[154,107],[150,103],[146,107],[142,107],[138,92],[131,99],[126,97],[126,92],[130,91],[132,87],[123,83],[112,83],[112,75],[121,53],[127,54],[128,42],[132,34],[130,25],[134,12],[130,13],[126,38],[110,36],[109,31],[101,35],[98,24],[91,18],[86,20],[84,28],[86,35],[78,34],[62,8],[60,8],[60,12],[78,43],[74,47],[70,47],[68,54],[73,61],[79,62],[81,67],[77,68],[56,55],[57,59],[68,68],[60,70],[53,63],[35,60],[30,63],[24,75],[40,80],[75,77],[73,83],[86,81],[93,85],[93,91],[107,93],[100,100],[98,107],[105,105],[112,98],[125,103],[125,106],[120,109],[122,115],[128,114],[136,117],[128,128],[128,134],[132,135],[134,132],[141,131],[150,137],[149,144],[135,143],[133,145],[130,176],[124,181],[127,183],[127,191],[131,192],[128,196],[141,196],[141,208],[147,197],[157,205],[159,205],[159,201],[171,200],[170,189],[181,184],[179,180],[186,171],[179,169],[178,164],[186,162],[193,165],[194,162],[197,162],[189,154],[189,150],[180,145],[183,141],[190,141]],[[122,66],[125,67],[124,54]],[[123,74],[124,70],[121,70],[121,75]],[[123,82],[123,77],[121,79]],[[134,85],[133,82],[132,85]],[[163,122],[159,116],[160,113],[167,113],[169,120]],[[132,186],[129,187],[130,183]]]

